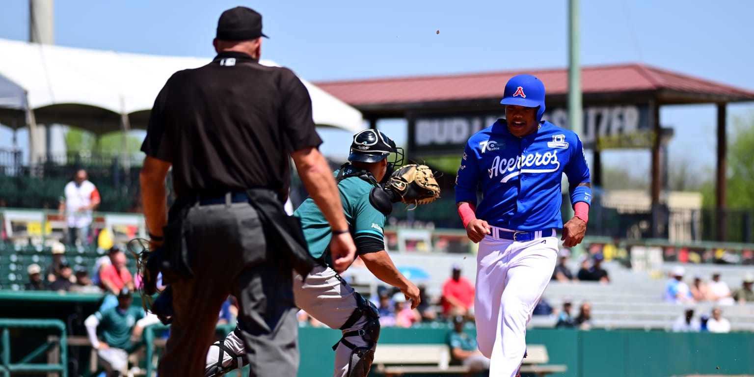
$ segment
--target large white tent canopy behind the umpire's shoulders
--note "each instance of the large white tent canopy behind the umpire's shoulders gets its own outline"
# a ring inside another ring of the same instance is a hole
[[[103,134],[121,129],[146,129],[158,92],[181,69],[197,68],[210,59],[125,54],[0,39],[0,94],[25,98],[35,121],[80,127]],[[270,60],[260,63],[277,66]],[[361,113],[302,79],[311,96],[314,122],[353,133],[363,128]],[[21,90],[19,90],[19,88]],[[8,97],[8,96],[6,96]],[[9,98],[11,98],[9,97]],[[5,102],[5,101],[4,101]],[[2,106],[0,122],[19,116]],[[127,115],[127,116],[124,116]],[[20,115],[23,120],[24,115]],[[26,121],[13,122],[23,127]],[[13,127],[13,126],[11,126]]]

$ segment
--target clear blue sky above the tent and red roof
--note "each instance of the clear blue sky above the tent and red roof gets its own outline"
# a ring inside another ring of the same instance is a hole
[[[262,57],[310,81],[563,68],[568,62],[567,4],[57,0],[55,43],[209,59],[219,14],[246,5],[262,13],[271,37],[264,41]],[[0,38],[26,40],[28,13],[28,0],[3,0]],[[754,90],[752,14],[749,0],[582,0],[581,63],[642,62]],[[730,105],[728,114],[731,120],[754,118],[754,104]],[[661,120],[676,129],[671,165],[713,166],[712,105],[666,106]],[[397,141],[405,139],[401,122],[381,126]],[[10,144],[10,134],[0,129],[0,148]],[[348,134],[323,136],[325,152],[348,148],[342,146]],[[603,161],[642,173],[649,152],[608,152]]]

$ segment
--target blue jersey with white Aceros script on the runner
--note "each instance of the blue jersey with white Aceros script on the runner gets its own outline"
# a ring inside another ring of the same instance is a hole
[[[590,182],[576,133],[544,121],[537,132],[518,137],[508,132],[504,119],[498,119],[469,138],[455,179],[455,201],[477,204],[481,182],[477,219],[517,231],[560,229],[562,173],[570,190]]]

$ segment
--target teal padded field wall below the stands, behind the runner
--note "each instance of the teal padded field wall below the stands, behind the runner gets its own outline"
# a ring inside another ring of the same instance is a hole
[[[339,332],[311,327],[299,330],[299,377],[330,375],[334,357],[330,346],[340,338]],[[447,328],[385,328],[380,343],[444,343],[448,332]],[[754,333],[530,329],[526,341],[546,345],[550,363],[568,366],[563,377],[754,374]],[[375,372],[369,375],[379,376]]]

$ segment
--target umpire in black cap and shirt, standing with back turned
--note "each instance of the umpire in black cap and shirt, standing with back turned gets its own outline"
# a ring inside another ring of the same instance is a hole
[[[164,255],[174,311],[159,375],[204,375],[228,294],[238,297],[251,375],[296,375],[290,271],[308,273],[313,263],[300,224],[283,209],[289,155],[333,229],[336,270],[354,259],[336,182],[318,150],[308,91],[289,69],[259,64],[261,37],[256,11],[223,12],[215,59],[173,74],[152,108],[140,182],[151,247]],[[176,201],[168,216],[171,166]]]

